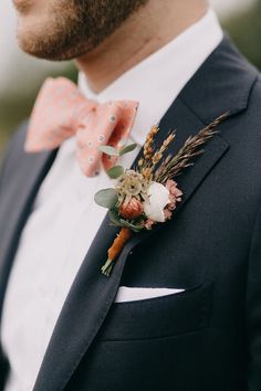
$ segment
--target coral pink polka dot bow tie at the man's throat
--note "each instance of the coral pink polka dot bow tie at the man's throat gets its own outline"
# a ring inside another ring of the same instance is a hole
[[[76,159],[86,177],[108,170],[117,158],[102,154],[100,146],[119,149],[127,140],[138,103],[117,101],[97,104],[85,98],[71,81],[48,78],[36,98],[24,149],[55,149],[75,135]]]

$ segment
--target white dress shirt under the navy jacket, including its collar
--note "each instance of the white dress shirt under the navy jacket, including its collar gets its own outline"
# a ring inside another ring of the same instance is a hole
[[[123,159],[129,167],[150,126],[159,123],[186,83],[217,47],[222,31],[212,10],[173,42],[95,95],[80,74],[80,88],[97,102],[139,102],[129,142],[138,148]],[[76,273],[106,210],[94,203],[111,186],[106,173],[85,178],[66,140],[44,179],[23,229],[3,305],[1,341],[11,370],[4,391],[31,391],[53,328]]]

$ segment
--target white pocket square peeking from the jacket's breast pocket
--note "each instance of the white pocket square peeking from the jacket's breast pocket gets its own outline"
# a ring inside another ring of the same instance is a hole
[[[130,288],[121,286],[115,298],[115,303],[138,302],[154,297],[175,295],[185,289],[170,288]]]

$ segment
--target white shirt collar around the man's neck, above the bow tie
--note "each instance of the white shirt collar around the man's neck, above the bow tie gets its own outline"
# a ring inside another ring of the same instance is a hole
[[[94,94],[83,73],[79,75],[82,93],[100,103],[117,99],[139,102],[132,139],[142,146],[153,125],[159,123],[180,91],[218,46],[223,36],[212,9],[206,15],[125,72],[100,94]]]

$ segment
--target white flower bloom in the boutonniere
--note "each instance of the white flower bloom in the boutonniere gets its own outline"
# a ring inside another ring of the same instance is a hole
[[[153,182],[148,188],[149,202],[144,203],[144,212],[149,220],[165,222],[164,209],[169,203],[168,189],[158,182]]]

